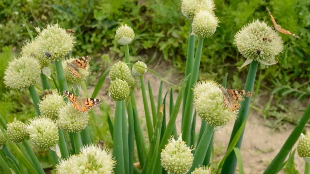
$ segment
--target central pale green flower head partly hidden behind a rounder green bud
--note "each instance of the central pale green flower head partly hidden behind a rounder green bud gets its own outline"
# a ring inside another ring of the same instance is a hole
[[[126,81],[128,86],[133,85],[130,69],[124,62],[119,61],[115,63],[109,71],[109,76],[111,81],[120,79]]]

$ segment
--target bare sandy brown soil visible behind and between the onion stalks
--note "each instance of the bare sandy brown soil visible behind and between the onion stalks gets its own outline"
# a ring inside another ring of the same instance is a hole
[[[154,70],[155,72],[159,73],[162,75],[166,80],[169,82],[180,86],[182,79],[184,78],[184,75],[179,74],[174,68],[172,68],[169,63],[153,63],[153,65],[149,66],[150,69]],[[207,77],[206,77],[207,78]],[[155,76],[151,72],[147,72],[144,75],[144,79],[146,82],[146,87],[147,87],[147,80],[150,80],[152,90],[153,90],[153,95],[154,95],[154,100],[155,100],[155,105],[157,105],[157,97],[158,97],[158,89],[160,86],[160,79]],[[221,80],[219,80],[221,81]],[[139,80],[137,80],[136,89],[135,89],[135,97],[136,97],[136,102],[137,103],[143,103],[142,100],[142,94],[140,90],[140,85],[139,85]],[[103,88],[100,91],[99,96],[102,96],[109,104],[112,110],[112,115],[114,115],[114,110],[115,110],[115,102],[108,97],[108,85],[109,85],[109,80],[108,77],[104,83]],[[167,90],[170,90],[170,85],[167,83],[163,83],[163,97],[166,93]],[[148,91],[147,91],[148,95]],[[178,92],[174,92],[174,101],[176,100],[178,95]],[[167,95],[166,99],[168,105],[167,108],[169,108],[169,95]],[[150,103],[149,108],[150,107]],[[145,117],[144,117],[144,108],[143,104],[137,104],[138,106],[138,114],[139,117],[141,118],[141,124],[142,128],[146,129],[146,124],[145,124]],[[167,114],[169,112],[169,109],[167,109]],[[200,124],[201,120],[199,117],[197,117],[197,123],[196,123],[196,132],[197,134],[199,133],[200,130]],[[213,162],[216,164],[219,162],[219,160],[222,159],[226,152],[226,148],[228,146],[228,141],[230,138],[230,134],[233,128],[234,121],[232,123],[226,125],[224,128],[221,129],[221,131],[216,131],[215,133],[215,138],[214,138],[214,160]],[[180,127],[181,127],[181,109],[178,114],[177,120],[176,120],[176,125],[177,125],[177,130],[178,134],[180,133]],[[243,159],[243,165],[244,165],[244,172],[245,173],[250,173],[250,174],[258,174],[258,173],[263,173],[263,171],[267,168],[268,164],[272,161],[272,159],[276,156],[284,142],[286,141],[287,137],[290,135],[292,132],[294,126],[291,124],[286,124],[286,130],[284,131],[275,131],[273,134],[270,134],[270,128],[268,128],[263,120],[262,115],[259,114],[259,112],[252,110],[249,119],[246,124],[246,130],[244,133],[243,141],[242,141],[242,146],[241,146],[241,155]],[[146,134],[144,135],[145,137],[147,136]],[[147,139],[147,137],[146,137]],[[297,145],[297,143],[296,143]],[[296,148],[296,145],[294,148]],[[297,152],[295,154],[295,167],[296,169],[303,173],[303,167],[304,167],[304,162],[303,159],[300,158],[297,155]],[[236,172],[238,173],[238,172]],[[284,170],[282,170],[280,173],[284,173]]]

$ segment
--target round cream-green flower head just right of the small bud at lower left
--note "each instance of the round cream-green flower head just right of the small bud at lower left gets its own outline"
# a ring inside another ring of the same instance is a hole
[[[57,125],[51,118],[44,116],[31,119],[27,131],[32,143],[38,149],[54,147],[59,139]]]

